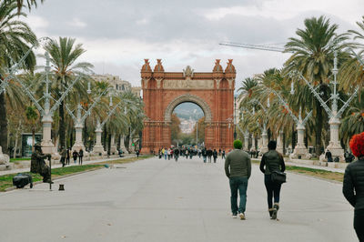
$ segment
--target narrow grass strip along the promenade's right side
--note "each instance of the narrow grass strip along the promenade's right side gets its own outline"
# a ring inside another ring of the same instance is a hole
[[[252,163],[259,164],[258,161],[252,161]],[[342,182],[344,180],[344,174],[339,172],[332,172],[327,170],[308,168],[303,166],[288,166],[286,165],[286,170],[298,174],[304,174],[308,176],[315,176],[323,179],[334,180]]]

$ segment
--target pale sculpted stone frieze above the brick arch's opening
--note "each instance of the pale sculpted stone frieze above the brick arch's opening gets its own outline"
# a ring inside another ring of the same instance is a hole
[[[164,89],[214,89],[214,80],[164,80]]]

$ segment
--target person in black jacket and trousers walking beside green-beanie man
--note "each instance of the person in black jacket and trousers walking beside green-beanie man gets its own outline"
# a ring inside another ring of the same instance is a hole
[[[268,142],[268,152],[265,153],[260,161],[260,171],[264,174],[264,185],[267,189],[268,212],[271,219],[277,219],[279,209],[279,195],[281,184],[272,181],[272,172],[286,170],[282,154],[276,150],[277,142],[271,140]],[[274,197],[274,205],[273,205]]]

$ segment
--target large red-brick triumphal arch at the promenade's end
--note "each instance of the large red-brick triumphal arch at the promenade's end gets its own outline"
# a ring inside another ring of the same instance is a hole
[[[162,61],[152,71],[148,59],[141,69],[145,113],[141,153],[169,147],[171,115],[176,106],[191,102],[205,114],[205,146],[230,149],[234,134],[234,88],[236,70],[229,59],[225,71],[217,59],[213,71],[165,72]]]

